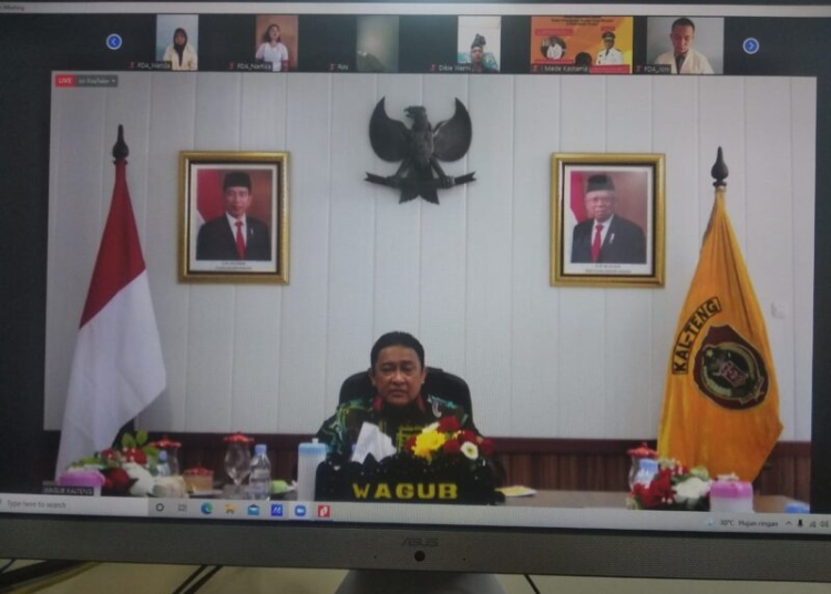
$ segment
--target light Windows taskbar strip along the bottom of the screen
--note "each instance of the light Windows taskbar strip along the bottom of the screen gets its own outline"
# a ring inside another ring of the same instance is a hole
[[[0,493],[0,514],[831,535],[831,515]]]

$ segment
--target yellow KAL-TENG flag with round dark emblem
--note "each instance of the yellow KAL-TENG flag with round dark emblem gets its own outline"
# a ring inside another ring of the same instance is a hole
[[[781,431],[768,332],[719,187],[669,357],[658,452],[752,481]]]

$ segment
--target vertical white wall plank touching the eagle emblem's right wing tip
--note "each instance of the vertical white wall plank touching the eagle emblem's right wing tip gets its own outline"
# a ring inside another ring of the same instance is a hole
[[[491,434],[511,430],[511,280],[513,209],[513,76],[471,76],[474,129],[468,188],[465,377],[476,395],[476,423]]]

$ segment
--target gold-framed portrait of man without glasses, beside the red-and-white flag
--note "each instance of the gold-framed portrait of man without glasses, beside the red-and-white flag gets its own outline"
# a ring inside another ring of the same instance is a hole
[[[288,284],[288,153],[179,153],[179,280]]]

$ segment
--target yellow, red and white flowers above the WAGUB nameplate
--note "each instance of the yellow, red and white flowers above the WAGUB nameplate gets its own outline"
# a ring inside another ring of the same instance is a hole
[[[470,429],[462,429],[459,419],[452,416],[442,417],[411,437],[404,450],[432,462],[440,457],[466,458],[475,462],[493,455],[493,441],[476,434]]]

